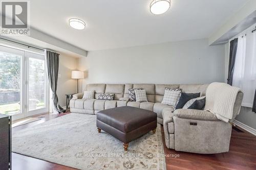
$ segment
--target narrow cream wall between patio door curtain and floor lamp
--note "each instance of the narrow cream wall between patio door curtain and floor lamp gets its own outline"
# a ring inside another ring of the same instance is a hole
[[[66,106],[66,95],[76,93],[76,80],[71,79],[71,71],[77,69],[77,58],[64,54],[59,55],[59,74],[57,95],[60,106]]]

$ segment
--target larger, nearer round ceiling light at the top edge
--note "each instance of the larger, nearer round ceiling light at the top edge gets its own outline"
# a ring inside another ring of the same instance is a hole
[[[150,11],[153,14],[163,14],[170,8],[170,0],[154,0],[150,4]]]

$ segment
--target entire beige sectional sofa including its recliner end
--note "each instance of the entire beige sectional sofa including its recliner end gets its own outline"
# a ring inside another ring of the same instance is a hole
[[[89,84],[86,90],[95,90],[94,99],[82,99],[83,93],[73,95],[71,112],[97,114],[98,111],[133,106],[157,113],[157,122],[163,125],[165,145],[176,151],[216,154],[229,151],[231,122],[239,114],[243,92],[237,94],[233,116],[228,123],[205,110],[177,109],[161,104],[165,87],[181,88],[182,92],[206,94],[208,84]],[[148,102],[129,102],[129,88],[146,90]],[[115,94],[115,100],[97,100],[99,94]]]

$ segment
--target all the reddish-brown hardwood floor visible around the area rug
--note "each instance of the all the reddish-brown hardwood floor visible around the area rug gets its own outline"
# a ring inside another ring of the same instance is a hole
[[[18,131],[27,127],[31,127],[52,118],[62,116],[68,113],[62,113],[59,115],[42,114],[35,117],[41,117],[40,120],[32,122],[26,125],[12,128],[12,131]],[[162,140],[164,143],[163,127]],[[166,157],[167,170],[179,170],[179,169],[256,169],[256,136],[243,132],[242,129],[232,129],[230,148],[228,153],[222,154],[193,154],[186,152],[177,152],[169,150],[165,147],[165,154],[176,154],[179,157]],[[12,169],[13,170],[73,170],[74,168],[59,165],[56,163],[47,162],[44,160],[31,158],[28,156],[12,153]]]

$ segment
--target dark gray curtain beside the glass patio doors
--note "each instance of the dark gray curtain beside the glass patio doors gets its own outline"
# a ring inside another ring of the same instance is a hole
[[[57,82],[58,82],[58,70],[59,70],[59,54],[47,51],[46,54],[47,72],[50,87],[52,89],[52,100],[54,109],[59,113],[66,110],[59,106],[59,100],[57,96]]]

